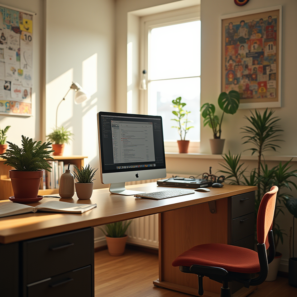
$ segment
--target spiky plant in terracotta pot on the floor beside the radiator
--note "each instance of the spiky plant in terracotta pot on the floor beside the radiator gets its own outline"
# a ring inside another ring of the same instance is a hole
[[[124,254],[128,236],[125,234],[132,220],[107,224],[100,230],[105,234],[108,252],[111,256]]]

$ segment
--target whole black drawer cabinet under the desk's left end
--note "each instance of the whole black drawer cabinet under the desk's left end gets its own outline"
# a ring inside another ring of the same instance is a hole
[[[93,228],[0,244],[0,255],[0,297],[94,297]]]

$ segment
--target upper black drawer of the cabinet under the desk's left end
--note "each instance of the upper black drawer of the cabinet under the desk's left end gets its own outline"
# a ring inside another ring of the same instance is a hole
[[[91,265],[93,254],[92,228],[23,241],[24,285]]]

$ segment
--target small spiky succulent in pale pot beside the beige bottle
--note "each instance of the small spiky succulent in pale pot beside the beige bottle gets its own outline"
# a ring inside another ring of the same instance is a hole
[[[85,168],[81,166],[81,169],[74,165],[74,168],[77,171],[73,172],[75,178],[78,180],[78,182],[75,183],[75,191],[78,199],[90,199],[93,192],[93,181],[95,180],[93,177],[98,168],[94,171],[94,168],[90,168],[90,164],[86,165]]]

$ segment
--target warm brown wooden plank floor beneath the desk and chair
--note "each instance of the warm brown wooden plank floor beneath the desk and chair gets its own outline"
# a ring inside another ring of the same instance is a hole
[[[113,257],[107,250],[95,253],[95,297],[190,297],[192,295],[153,285],[158,278],[158,256],[126,249],[123,256]],[[288,279],[278,277],[264,282],[249,297],[294,297],[297,288]]]

